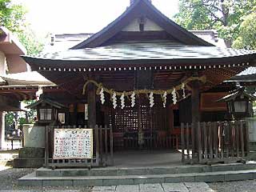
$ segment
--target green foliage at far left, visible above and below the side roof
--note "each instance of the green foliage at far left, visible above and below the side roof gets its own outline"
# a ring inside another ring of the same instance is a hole
[[[17,34],[19,40],[26,47],[28,54],[38,54],[43,47],[30,25],[26,22],[26,10],[22,5],[14,4],[11,0],[0,0],[0,26]],[[33,101],[26,102],[29,104]],[[35,111],[7,112],[6,113],[6,134],[13,134],[18,126],[25,123],[33,123]]]

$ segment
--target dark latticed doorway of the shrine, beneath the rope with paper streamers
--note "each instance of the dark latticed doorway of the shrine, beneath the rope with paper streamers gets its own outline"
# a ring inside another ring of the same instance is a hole
[[[178,149],[179,137],[174,135],[170,107],[163,107],[161,97],[140,97],[134,107],[108,107],[108,123],[113,128],[114,151]]]

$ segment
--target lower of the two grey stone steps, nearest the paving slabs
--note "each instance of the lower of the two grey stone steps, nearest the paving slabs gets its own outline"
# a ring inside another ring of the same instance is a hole
[[[18,179],[21,186],[117,186],[146,183],[230,182],[256,178],[256,170],[232,170],[192,174],[122,176],[36,177],[35,172]]]

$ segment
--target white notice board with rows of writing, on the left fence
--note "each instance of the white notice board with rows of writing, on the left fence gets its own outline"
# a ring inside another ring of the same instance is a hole
[[[93,130],[54,129],[53,158],[93,158]]]

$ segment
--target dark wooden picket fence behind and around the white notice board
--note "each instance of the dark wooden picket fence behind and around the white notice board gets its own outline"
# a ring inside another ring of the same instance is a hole
[[[54,156],[54,129],[70,129],[71,126],[46,126],[46,167],[92,167],[113,166],[113,132],[112,127],[95,126],[93,128],[93,158],[85,159],[55,159]],[[73,126],[76,128],[76,126]],[[81,128],[81,127],[79,127]],[[86,127],[85,127],[86,129]],[[90,128],[91,129],[91,128]]]

